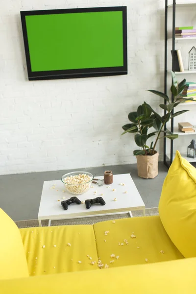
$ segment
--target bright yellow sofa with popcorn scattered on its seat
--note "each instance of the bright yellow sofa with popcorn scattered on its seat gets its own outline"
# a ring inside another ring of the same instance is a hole
[[[179,215],[178,206],[185,202],[183,196],[175,202],[174,191],[170,198],[168,194],[179,176],[191,189],[196,188],[196,171],[191,169],[177,152],[164,182],[160,216],[18,229],[0,209],[0,294],[196,293],[196,258],[185,258],[186,254],[182,254],[187,253],[186,242],[189,238],[193,241],[193,236],[187,233],[181,245],[182,237],[175,232],[175,209],[169,233],[165,228],[170,216],[164,211],[168,208],[171,213],[170,205],[174,203]],[[187,197],[189,192],[182,194]],[[185,203],[189,217],[184,221],[193,225],[194,209]],[[191,235],[194,234],[193,228]],[[196,256],[194,250],[191,256]]]

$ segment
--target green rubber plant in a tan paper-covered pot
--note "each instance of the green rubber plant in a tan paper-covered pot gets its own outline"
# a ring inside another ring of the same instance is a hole
[[[130,112],[128,119],[131,123],[123,125],[123,134],[135,133],[135,143],[140,149],[134,150],[133,154],[137,158],[138,175],[143,178],[154,178],[158,175],[158,156],[156,145],[159,139],[169,138],[174,140],[178,138],[177,134],[173,134],[169,130],[164,130],[165,124],[173,117],[180,115],[188,110],[177,111],[173,113],[173,109],[184,100],[190,100],[181,97],[181,93],[186,86],[186,80],[177,82],[175,74],[172,72],[171,92],[173,99],[171,102],[169,97],[159,91],[147,90],[166,100],[166,104],[160,104],[160,108],[166,111],[164,116],[156,113],[152,107],[144,102],[138,106],[137,111]],[[153,128],[151,132],[149,129]],[[162,136],[161,136],[162,134]],[[154,137],[153,141],[147,145],[147,140]]]

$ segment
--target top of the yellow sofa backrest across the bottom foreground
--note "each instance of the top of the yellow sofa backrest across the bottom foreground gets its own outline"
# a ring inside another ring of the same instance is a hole
[[[0,281],[2,294],[195,294],[196,258]]]

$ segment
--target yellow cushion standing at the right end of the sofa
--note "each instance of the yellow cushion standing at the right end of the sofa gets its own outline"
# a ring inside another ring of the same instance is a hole
[[[159,215],[184,257],[196,256],[196,169],[179,151],[163,184]]]

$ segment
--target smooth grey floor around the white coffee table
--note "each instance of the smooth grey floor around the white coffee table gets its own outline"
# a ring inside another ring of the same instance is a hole
[[[136,164],[83,169],[92,172],[94,176],[102,175],[105,170],[112,170],[113,174],[130,172],[146,207],[158,206],[163,181],[168,172],[163,163],[159,163],[159,175],[154,179],[139,178]],[[66,172],[70,171],[1,175],[0,207],[14,221],[37,219],[43,182],[60,179]]]

